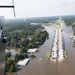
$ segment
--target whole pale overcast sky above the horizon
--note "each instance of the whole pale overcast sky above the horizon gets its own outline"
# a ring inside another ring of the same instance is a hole
[[[12,0],[0,0],[0,5]],[[75,0],[14,0],[17,18],[75,15]],[[13,9],[0,8],[0,15],[13,18]]]

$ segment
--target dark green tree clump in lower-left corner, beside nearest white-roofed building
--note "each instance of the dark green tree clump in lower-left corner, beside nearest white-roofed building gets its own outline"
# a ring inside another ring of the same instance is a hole
[[[6,62],[5,62],[5,72],[15,72],[17,67],[15,66],[16,62],[19,60],[28,58],[28,54],[20,52],[19,54],[16,54],[14,56],[14,59],[12,59],[11,53],[6,53]]]

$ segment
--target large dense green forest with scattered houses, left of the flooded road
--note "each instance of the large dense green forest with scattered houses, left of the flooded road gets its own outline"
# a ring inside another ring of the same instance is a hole
[[[7,48],[36,48],[42,45],[48,36],[48,33],[43,31],[44,27],[42,25],[31,25],[25,22],[8,22],[5,23],[4,28],[7,33]]]

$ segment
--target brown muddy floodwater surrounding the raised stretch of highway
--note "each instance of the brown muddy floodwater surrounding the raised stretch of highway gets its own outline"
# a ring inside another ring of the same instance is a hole
[[[51,51],[54,30],[50,27],[46,28],[49,32],[49,39],[39,48],[39,52],[35,53],[36,58],[30,59],[30,62],[19,67],[15,73],[17,75],[75,75],[75,48],[73,48],[71,27],[62,26],[62,34],[64,37],[65,50],[68,53],[68,58],[58,62],[46,60],[46,52]],[[41,58],[41,59],[40,59]],[[40,59],[40,60],[39,60]],[[9,74],[10,75],[10,74]]]

